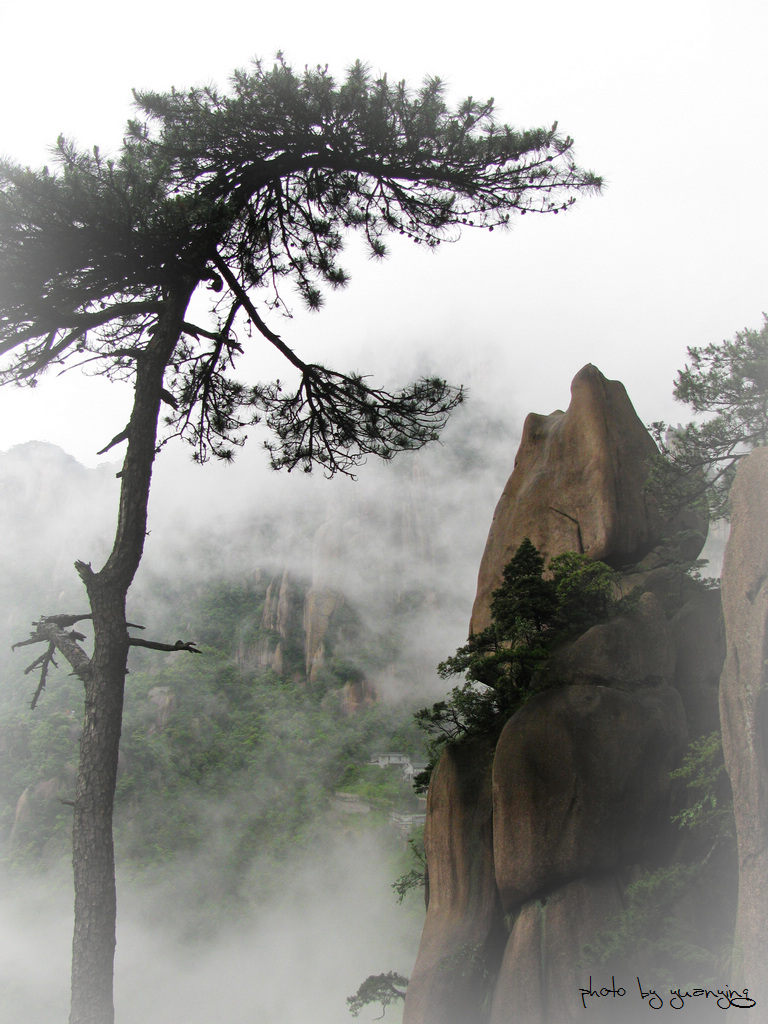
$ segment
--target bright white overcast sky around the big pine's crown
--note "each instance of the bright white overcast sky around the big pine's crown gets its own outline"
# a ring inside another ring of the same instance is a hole
[[[95,0],[13,4],[0,150],[39,165],[63,132],[108,151],[132,86],[225,85],[278,49],[339,75],[357,57],[413,84],[437,74],[456,99],[493,95],[518,127],[557,120],[580,162],[606,177],[602,198],[437,255],[396,246],[383,266],[352,258],[344,293],[275,328],[302,354],[333,364],[335,353],[341,369],[389,375],[394,365],[407,377],[428,361],[518,421],[563,408],[588,361],[624,381],[644,421],[684,419],[671,387],[686,346],[759,327],[768,309],[763,0],[278,8],[134,0],[121,16]],[[127,399],[74,375],[3,389],[0,451],[39,438],[95,464]]]

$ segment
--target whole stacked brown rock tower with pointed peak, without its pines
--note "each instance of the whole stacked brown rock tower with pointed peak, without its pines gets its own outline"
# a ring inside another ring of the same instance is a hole
[[[495,749],[445,750],[429,792],[429,899],[404,1024],[598,1019],[580,987],[611,971],[580,962],[582,947],[622,909],[627,884],[671,855],[670,772],[690,738],[718,726],[725,647],[717,594],[681,582],[674,564],[696,557],[703,524],[665,522],[643,488],[654,451],[623,385],[592,366],[567,412],[525,421],[471,630],[488,624],[526,537],[547,558],[575,550],[608,562],[623,592],[642,596],[556,652],[548,687]],[[629,1020],[624,1009],[599,1019]]]

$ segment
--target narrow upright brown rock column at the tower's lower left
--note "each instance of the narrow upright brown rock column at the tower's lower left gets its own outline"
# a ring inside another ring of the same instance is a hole
[[[429,787],[427,916],[403,1024],[474,1024],[505,932],[494,881],[493,744],[445,748]]]

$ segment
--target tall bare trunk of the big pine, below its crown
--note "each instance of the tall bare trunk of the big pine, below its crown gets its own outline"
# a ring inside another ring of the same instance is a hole
[[[70,1024],[114,1024],[117,897],[112,823],[128,657],[126,598],[141,561],[150,481],[157,449],[163,376],[178,342],[194,286],[171,294],[136,384],[123,463],[115,544],[103,568],[76,563],[93,612],[93,656],[85,679],[73,865],[75,934]]]

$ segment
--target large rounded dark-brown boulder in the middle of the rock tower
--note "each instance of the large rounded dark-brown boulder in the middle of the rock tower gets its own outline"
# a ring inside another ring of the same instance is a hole
[[[494,760],[494,860],[505,911],[584,874],[655,856],[685,742],[670,686],[559,687],[504,727]]]

